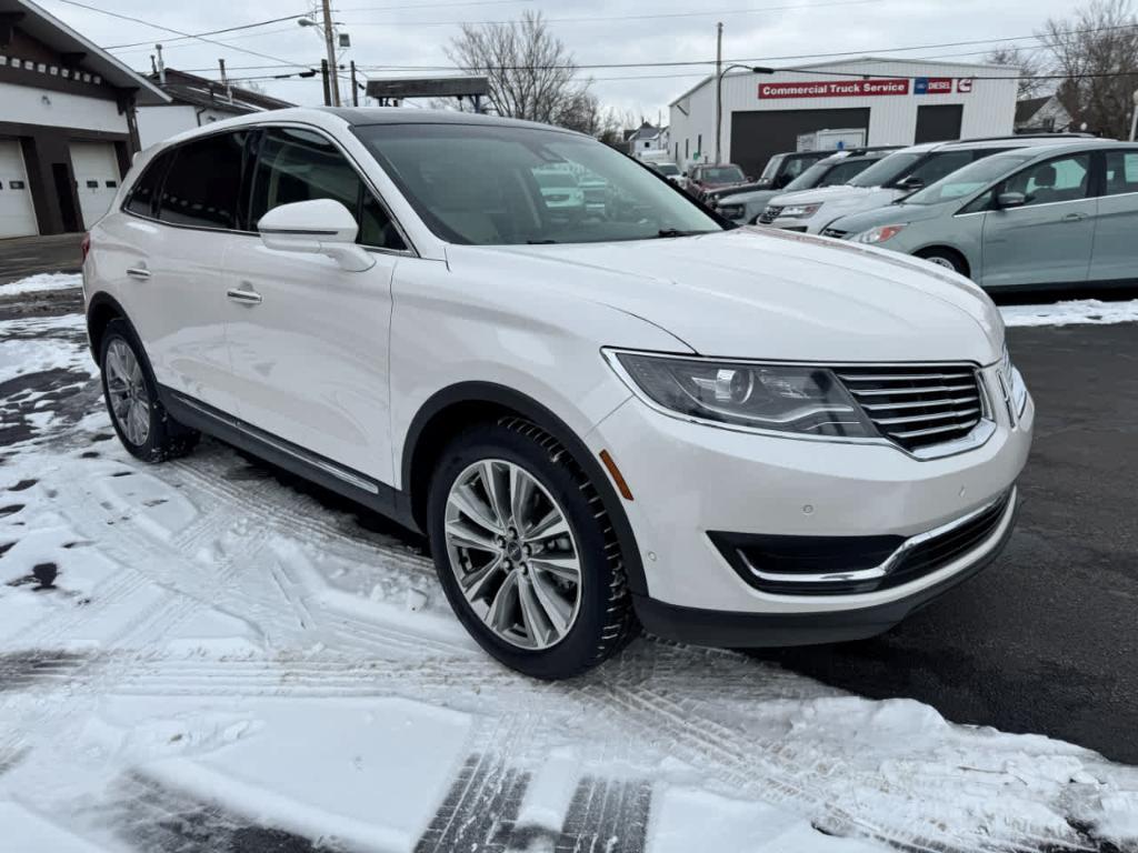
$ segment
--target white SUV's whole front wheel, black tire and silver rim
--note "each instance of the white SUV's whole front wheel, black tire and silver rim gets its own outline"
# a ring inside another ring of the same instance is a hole
[[[534,424],[503,419],[459,436],[436,465],[427,513],[452,608],[506,666],[569,678],[633,636],[620,548],[601,497]]]

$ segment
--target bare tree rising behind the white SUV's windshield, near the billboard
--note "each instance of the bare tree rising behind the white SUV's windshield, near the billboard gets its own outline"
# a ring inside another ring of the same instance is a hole
[[[574,55],[541,13],[526,11],[510,24],[463,24],[446,53],[468,74],[489,78],[488,100],[498,115],[578,130],[597,125],[589,81],[575,80]]]

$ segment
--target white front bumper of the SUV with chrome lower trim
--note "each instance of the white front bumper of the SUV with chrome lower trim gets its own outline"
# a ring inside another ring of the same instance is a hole
[[[995,367],[982,371],[992,382]],[[999,407],[997,407],[999,409]],[[1008,491],[1031,446],[1029,397],[1012,423],[966,452],[918,459],[889,444],[775,438],[691,423],[632,398],[587,437],[628,482],[625,502],[644,565],[645,627],[695,643],[818,643],[871,636],[970,577],[999,553],[1014,500],[976,547],[912,581],[856,594],[775,594],[741,577],[709,532],[910,539]],[[729,629],[729,630],[728,630]],[[737,629],[737,630],[736,630]],[[742,632],[744,636],[737,636]],[[748,640],[750,636],[750,640]]]

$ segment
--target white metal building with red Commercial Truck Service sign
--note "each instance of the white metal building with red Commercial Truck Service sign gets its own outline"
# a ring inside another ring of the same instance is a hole
[[[757,176],[800,134],[827,129],[864,129],[869,146],[1011,134],[1019,76],[1006,66],[875,57],[732,71],[719,159]],[[715,75],[671,102],[670,150],[682,168],[715,160]]]

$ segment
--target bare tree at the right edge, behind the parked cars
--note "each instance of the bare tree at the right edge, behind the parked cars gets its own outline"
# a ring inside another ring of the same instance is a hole
[[[1128,139],[1138,89],[1138,17],[1131,0],[1090,0],[1039,35],[1063,75],[1058,96],[1075,126]]]

